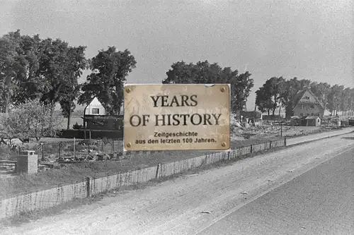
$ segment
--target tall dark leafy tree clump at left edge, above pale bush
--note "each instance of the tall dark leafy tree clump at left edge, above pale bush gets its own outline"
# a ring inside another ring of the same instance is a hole
[[[21,35],[20,30],[1,37],[2,106],[7,109],[9,104],[40,98],[54,107],[57,102],[75,100],[77,79],[86,65],[85,49],[69,47],[59,39],[41,40],[39,35]]]

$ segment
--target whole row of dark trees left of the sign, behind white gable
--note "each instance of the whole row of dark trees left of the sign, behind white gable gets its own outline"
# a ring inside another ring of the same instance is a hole
[[[21,35],[20,30],[0,37],[1,112],[28,99],[39,99],[53,110],[60,104],[68,128],[75,101],[87,104],[98,97],[110,114],[120,112],[122,86],[135,68],[134,56],[128,50],[108,47],[86,59],[85,50],[60,39]],[[79,84],[86,69],[92,73],[86,83]]]

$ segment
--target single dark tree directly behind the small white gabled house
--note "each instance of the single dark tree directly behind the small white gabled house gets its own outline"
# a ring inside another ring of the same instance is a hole
[[[97,97],[108,114],[119,114],[123,102],[123,85],[128,73],[137,64],[134,56],[127,49],[116,52],[115,47],[108,47],[98,52],[89,62],[93,72],[82,85],[79,104],[88,104]]]

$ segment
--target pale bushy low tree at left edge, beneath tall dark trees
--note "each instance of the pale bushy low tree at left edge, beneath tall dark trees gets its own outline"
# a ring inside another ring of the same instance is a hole
[[[53,115],[51,105],[40,99],[27,100],[9,110],[1,119],[1,134],[7,138],[40,138],[55,136],[62,123],[59,116]]]

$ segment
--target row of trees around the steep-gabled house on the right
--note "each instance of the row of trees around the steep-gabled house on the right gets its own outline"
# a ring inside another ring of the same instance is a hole
[[[343,85],[330,85],[329,83],[316,83],[308,79],[298,80],[292,78],[270,78],[256,91],[256,106],[261,112],[275,114],[275,110],[285,107],[287,117],[293,115],[295,95],[299,90],[309,89],[321,102],[324,109],[331,114],[338,111],[352,115],[354,107],[354,89]]]

